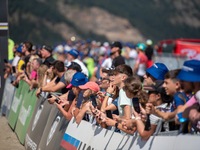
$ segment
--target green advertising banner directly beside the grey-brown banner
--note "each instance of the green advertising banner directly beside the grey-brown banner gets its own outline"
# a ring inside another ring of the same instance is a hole
[[[29,87],[27,89],[29,89]],[[31,120],[31,116],[32,116],[32,113],[37,101],[37,97],[35,96],[35,93],[36,93],[35,90],[26,91],[26,94],[23,98],[23,102],[22,102],[21,109],[19,112],[19,116],[17,119],[15,132],[19,138],[20,143],[22,144],[24,144],[26,130],[28,128],[28,125]]]

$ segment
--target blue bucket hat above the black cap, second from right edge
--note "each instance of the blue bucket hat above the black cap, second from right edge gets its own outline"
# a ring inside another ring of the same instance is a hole
[[[163,63],[155,63],[150,68],[146,69],[146,72],[157,80],[164,80],[165,74],[168,71],[168,68]]]

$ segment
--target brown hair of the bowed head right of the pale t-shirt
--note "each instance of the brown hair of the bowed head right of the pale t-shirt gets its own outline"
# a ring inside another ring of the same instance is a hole
[[[148,94],[142,90],[142,83],[138,79],[138,77],[128,77],[124,81],[123,89],[125,91],[129,91],[130,93],[133,93],[135,97],[139,99],[139,102],[142,105],[142,107],[145,108],[145,105],[148,101]]]

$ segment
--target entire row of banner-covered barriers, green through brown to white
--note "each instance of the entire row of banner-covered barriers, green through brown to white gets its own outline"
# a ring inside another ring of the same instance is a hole
[[[149,140],[143,141],[138,135],[122,135],[84,120],[76,124],[74,118],[68,121],[56,105],[50,105],[42,96],[37,99],[35,90],[28,89],[21,81],[10,101],[8,117],[26,149],[199,149],[200,136],[177,135],[177,131],[162,134],[157,128]]]

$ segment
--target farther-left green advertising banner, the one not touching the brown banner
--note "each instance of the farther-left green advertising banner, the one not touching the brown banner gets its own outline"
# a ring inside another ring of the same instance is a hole
[[[12,106],[10,109],[10,114],[8,117],[8,124],[14,130],[15,124],[19,115],[23,97],[26,94],[29,85],[25,81],[20,81],[19,87],[15,91],[15,96],[13,98]]]

